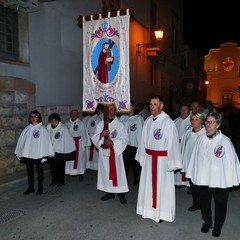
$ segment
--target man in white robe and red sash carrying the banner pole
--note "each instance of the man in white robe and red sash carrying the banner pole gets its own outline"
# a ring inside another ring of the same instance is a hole
[[[121,204],[126,204],[128,184],[122,153],[127,146],[128,133],[115,114],[115,105],[109,105],[108,130],[104,130],[104,122],[101,121],[92,136],[99,149],[97,189],[107,192],[102,201],[115,198],[117,193]]]

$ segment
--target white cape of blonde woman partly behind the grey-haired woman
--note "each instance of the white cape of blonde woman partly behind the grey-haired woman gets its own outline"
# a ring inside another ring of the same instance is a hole
[[[182,170],[181,172],[186,173],[190,161],[190,157],[193,151],[193,147],[197,138],[202,135],[206,134],[206,129],[203,127],[198,132],[193,132],[193,128],[191,127],[185,134],[183,134],[181,140],[181,154],[182,154]]]

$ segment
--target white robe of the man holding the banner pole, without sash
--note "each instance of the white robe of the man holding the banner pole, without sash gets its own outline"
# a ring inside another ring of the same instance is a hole
[[[123,123],[117,117],[108,124],[110,131],[110,138],[113,141],[113,148],[115,152],[115,164],[117,172],[117,186],[113,186],[113,181],[109,179],[109,156],[105,155],[105,149],[101,147],[104,138],[100,138],[103,131],[103,121],[101,121],[96,128],[95,134],[92,137],[94,145],[99,149],[98,159],[98,179],[97,189],[110,193],[128,192],[127,177],[123,162],[122,153],[127,146],[128,133]]]

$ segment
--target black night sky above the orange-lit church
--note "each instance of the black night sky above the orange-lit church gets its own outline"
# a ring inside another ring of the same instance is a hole
[[[232,0],[183,0],[183,44],[204,55],[231,40],[240,44],[240,11]]]

